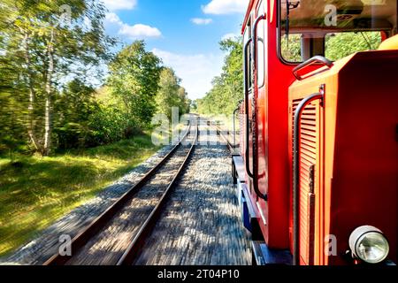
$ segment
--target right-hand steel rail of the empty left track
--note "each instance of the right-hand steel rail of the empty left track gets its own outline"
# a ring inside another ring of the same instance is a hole
[[[126,252],[123,254],[123,256],[120,257],[117,265],[132,265],[134,264],[136,259],[142,254],[142,247],[144,246],[145,240],[156,226],[158,218],[160,217],[160,214],[165,206],[165,203],[171,195],[172,188],[174,187],[177,179],[180,177],[181,172],[183,171],[185,165],[188,163],[189,157],[191,157],[191,154],[195,149],[195,145],[198,139],[198,132],[199,126],[196,125],[195,140],[188,151],[187,157],[185,157],[183,163],[180,165],[179,171],[174,175],[172,182],[166,188],[165,193],[160,198],[160,201],[159,203],[157,203],[155,209],[152,210],[149,217],[145,220],[140,231],[135,234],[134,240],[130,243],[130,245],[126,249]]]

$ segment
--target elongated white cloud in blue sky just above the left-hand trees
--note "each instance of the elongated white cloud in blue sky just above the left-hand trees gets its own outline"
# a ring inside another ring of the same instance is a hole
[[[127,25],[124,23],[119,16],[114,12],[109,12],[106,14],[106,24],[107,26],[113,25],[116,26],[118,30],[118,34],[125,35],[130,39],[143,39],[150,37],[159,37],[162,35],[160,30],[157,27],[150,27],[147,25],[136,24],[134,26]]]

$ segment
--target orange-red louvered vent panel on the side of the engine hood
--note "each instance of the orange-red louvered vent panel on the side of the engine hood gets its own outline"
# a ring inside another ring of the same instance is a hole
[[[293,125],[295,110],[301,100],[293,101]],[[315,104],[315,103],[314,103]],[[300,160],[300,253],[302,260],[310,262],[310,167],[317,163],[317,106],[308,105],[302,112],[301,160]],[[293,133],[293,129],[292,129]],[[293,147],[293,145],[292,145]],[[316,178],[315,178],[316,180]]]

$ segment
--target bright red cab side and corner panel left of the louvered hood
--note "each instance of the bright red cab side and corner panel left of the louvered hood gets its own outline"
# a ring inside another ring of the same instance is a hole
[[[277,14],[277,6],[267,4],[268,15]],[[250,2],[253,14],[260,1]],[[273,9],[273,11],[271,11]],[[249,15],[249,11],[248,11]],[[269,201],[258,201],[263,215],[259,215],[259,224],[267,244],[274,249],[287,249],[289,244],[288,214],[289,210],[289,170],[287,146],[287,110],[288,87],[295,80],[293,65],[284,65],[277,55],[276,17],[267,17],[264,25],[265,33],[265,73],[264,88],[258,91],[258,141],[259,156],[259,188],[268,193]],[[249,103],[251,115],[251,103]],[[251,141],[250,141],[250,154]],[[250,160],[251,162],[251,160]],[[256,195],[252,195],[254,203]],[[265,218],[265,221],[262,218]],[[265,222],[265,223],[264,223]]]

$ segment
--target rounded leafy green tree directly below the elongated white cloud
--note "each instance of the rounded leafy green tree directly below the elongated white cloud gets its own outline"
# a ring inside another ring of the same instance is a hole
[[[123,111],[135,126],[148,126],[156,112],[160,59],[136,41],[121,50],[109,66],[108,87],[124,104]]]

